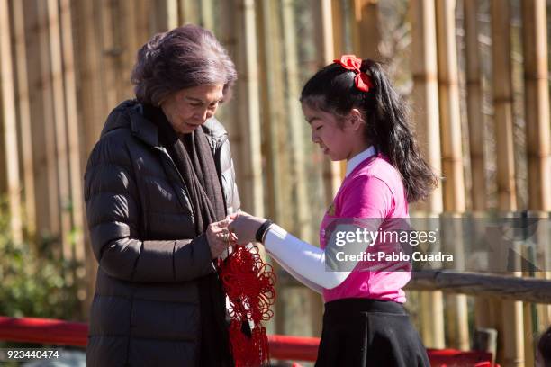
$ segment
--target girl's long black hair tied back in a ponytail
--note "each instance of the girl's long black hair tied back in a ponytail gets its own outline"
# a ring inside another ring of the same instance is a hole
[[[347,116],[353,108],[361,111],[366,119],[367,141],[400,172],[408,201],[428,199],[438,183],[415,142],[405,103],[379,63],[364,59],[360,70],[371,79],[373,86],[368,92],[357,89],[354,71],[330,64],[304,85],[301,102],[338,117]]]

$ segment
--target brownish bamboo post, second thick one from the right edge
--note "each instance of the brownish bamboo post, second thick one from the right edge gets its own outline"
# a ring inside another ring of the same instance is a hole
[[[510,65],[510,4],[492,0],[493,104],[496,125],[498,208],[517,210],[514,172],[512,81]],[[519,275],[519,273],[517,273]],[[522,302],[502,303],[501,346],[498,363],[504,367],[524,365]],[[499,358],[501,357],[501,358]]]

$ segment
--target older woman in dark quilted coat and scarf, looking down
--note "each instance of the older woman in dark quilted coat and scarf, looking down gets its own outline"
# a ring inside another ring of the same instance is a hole
[[[194,25],[140,49],[136,99],[109,114],[86,167],[99,264],[88,366],[233,364],[216,258],[239,196],[213,116],[236,77],[227,51]]]

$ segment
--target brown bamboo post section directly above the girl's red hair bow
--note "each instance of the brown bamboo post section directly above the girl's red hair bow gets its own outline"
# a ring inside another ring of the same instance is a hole
[[[382,60],[378,0],[352,0],[352,39],[356,54],[361,58]]]

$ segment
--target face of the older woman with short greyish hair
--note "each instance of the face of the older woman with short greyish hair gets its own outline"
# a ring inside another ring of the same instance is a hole
[[[224,85],[199,85],[171,94],[160,107],[179,134],[189,134],[210,119],[221,103]]]

